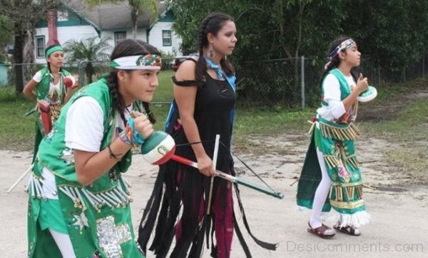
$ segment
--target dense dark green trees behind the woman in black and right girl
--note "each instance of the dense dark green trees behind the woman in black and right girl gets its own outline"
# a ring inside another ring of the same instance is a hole
[[[428,1],[412,0],[178,0],[174,6],[173,28],[182,37],[183,53],[198,49],[198,26],[211,11],[225,11],[235,18],[238,44],[234,51],[235,66],[249,74],[240,84],[267,89],[297,91],[299,64],[294,63],[294,78],[272,73],[278,86],[258,81],[254,74],[267,74],[265,64],[245,61],[310,57],[319,68],[327,61],[327,47],[337,36],[352,36],[370,61],[391,78],[426,51],[428,44]],[[297,60],[297,59],[295,59]],[[238,76],[240,74],[238,73]],[[270,76],[270,75],[269,75]],[[271,92],[270,96],[279,96]]]

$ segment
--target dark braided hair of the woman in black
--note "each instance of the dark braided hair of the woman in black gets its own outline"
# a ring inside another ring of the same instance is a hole
[[[208,16],[206,16],[205,19],[203,19],[203,21],[200,23],[198,35],[198,51],[200,58],[198,59],[198,62],[196,63],[195,67],[196,81],[205,81],[204,74],[207,71],[207,64],[205,59],[203,58],[203,49],[209,44],[207,36],[208,34],[213,34],[214,36],[217,36],[218,31],[223,28],[226,21],[234,20],[232,16],[229,16],[228,14],[224,14],[221,12],[213,12],[211,14],[208,14]],[[233,65],[230,64],[230,61],[228,61],[224,57],[220,59],[220,65],[225,74],[233,75],[235,73]]]

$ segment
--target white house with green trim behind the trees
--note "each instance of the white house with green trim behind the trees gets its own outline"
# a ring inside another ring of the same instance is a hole
[[[56,32],[57,39],[64,44],[69,39],[80,41],[91,36],[111,38],[108,43],[115,46],[121,39],[132,38],[131,11],[129,6],[121,4],[103,4],[89,9],[84,1],[68,0],[58,5]],[[137,19],[137,39],[156,46],[163,53],[181,55],[180,37],[171,28],[173,12],[164,1],[159,1],[160,16],[150,22],[148,12],[143,11]],[[44,56],[46,42],[49,40],[46,20],[36,24],[35,57],[36,63],[46,64]]]

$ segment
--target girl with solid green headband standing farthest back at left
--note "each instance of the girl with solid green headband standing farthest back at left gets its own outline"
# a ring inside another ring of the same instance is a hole
[[[47,66],[34,74],[23,91],[26,96],[37,101],[33,161],[41,139],[51,130],[51,124],[58,119],[61,106],[70,99],[72,91],[71,86],[66,87],[64,84],[66,76],[71,74],[62,68],[64,64],[62,46],[57,42],[46,47],[45,56]]]

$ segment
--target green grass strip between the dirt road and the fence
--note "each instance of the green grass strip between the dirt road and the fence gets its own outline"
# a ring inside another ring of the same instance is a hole
[[[158,119],[155,129],[162,130],[172,99],[173,71],[161,71],[158,89],[151,104]],[[396,96],[423,87],[427,81],[415,80],[404,84],[378,87],[379,96],[375,106],[387,104]],[[427,97],[415,99],[403,106],[394,119],[376,122],[360,122],[365,135],[383,137],[399,144],[386,154],[387,162],[411,171],[422,172],[428,167],[426,149],[428,136]],[[394,102],[393,102],[394,103]],[[34,101],[16,97],[14,89],[0,88],[0,149],[28,150],[33,148],[34,115],[24,113],[34,106]],[[235,111],[234,145],[235,151],[267,153],[268,143],[255,144],[251,139],[278,137],[282,134],[304,134],[309,129],[307,120],[315,114],[315,109],[290,110],[280,106],[248,108],[238,105]]]

